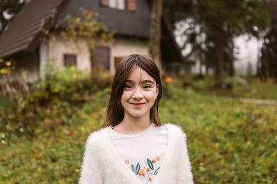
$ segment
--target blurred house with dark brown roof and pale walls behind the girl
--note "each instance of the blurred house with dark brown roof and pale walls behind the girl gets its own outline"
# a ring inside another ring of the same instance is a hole
[[[100,45],[98,58],[104,70],[114,72],[120,59],[128,54],[148,54],[150,34],[150,0],[31,0],[17,14],[8,29],[0,36],[0,58],[16,61],[16,70],[27,72],[30,83],[43,78],[46,65],[54,61],[56,70],[64,65],[75,65],[80,70],[91,70],[87,41],[80,38],[82,52],[72,41],[65,41],[59,32],[56,39],[42,32],[53,30],[57,21],[80,8],[98,11],[105,17],[109,30],[116,30],[114,42]],[[53,16],[53,12],[55,12]],[[43,24],[42,24],[43,23]],[[161,65],[183,61],[166,15],[161,20]],[[15,76],[16,77],[16,76]],[[20,79],[20,76],[17,76]]]

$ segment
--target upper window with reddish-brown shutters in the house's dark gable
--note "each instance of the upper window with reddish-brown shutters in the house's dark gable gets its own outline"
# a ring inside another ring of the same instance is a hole
[[[100,0],[100,4],[118,10],[136,11],[136,0]]]

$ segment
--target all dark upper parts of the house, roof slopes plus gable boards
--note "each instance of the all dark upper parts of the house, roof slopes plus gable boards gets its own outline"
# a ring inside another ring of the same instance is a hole
[[[100,6],[99,2],[96,0],[30,1],[10,23],[8,30],[1,34],[0,57],[8,57],[19,51],[33,52],[44,36],[41,31],[42,20],[44,20],[44,28],[50,30],[57,19],[63,19],[68,14],[74,17],[80,8],[99,11],[100,15],[105,17],[104,22],[109,30],[116,30],[119,35],[149,38],[150,0],[137,1],[135,12],[107,8]],[[54,12],[55,16],[51,16]],[[170,23],[164,14],[161,23],[161,48],[165,50],[164,58],[183,61]]]

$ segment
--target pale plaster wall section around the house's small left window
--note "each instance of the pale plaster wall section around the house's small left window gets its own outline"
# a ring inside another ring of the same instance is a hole
[[[91,70],[90,54],[87,41],[69,41],[69,38],[55,36],[48,41],[48,61],[53,62],[57,70],[64,68],[64,54],[76,54],[76,68],[89,72]]]

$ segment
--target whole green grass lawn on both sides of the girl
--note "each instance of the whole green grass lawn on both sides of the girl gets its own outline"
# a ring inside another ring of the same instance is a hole
[[[277,106],[198,94],[175,81],[163,92],[161,121],[186,132],[195,183],[277,182]],[[105,120],[108,96],[86,102],[85,121],[0,145],[0,183],[78,183],[84,143]]]

